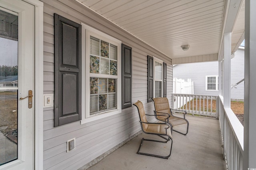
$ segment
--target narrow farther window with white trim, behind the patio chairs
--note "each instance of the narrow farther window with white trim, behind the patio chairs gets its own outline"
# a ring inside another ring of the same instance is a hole
[[[163,62],[154,58],[154,98],[161,98],[163,93]]]

